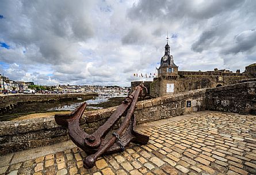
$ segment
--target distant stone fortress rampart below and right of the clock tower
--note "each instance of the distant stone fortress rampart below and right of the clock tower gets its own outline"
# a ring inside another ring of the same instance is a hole
[[[221,80],[219,79],[221,77]],[[243,73],[223,73],[219,71],[192,72],[178,71],[178,78],[171,79],[161,76],[154,79],[150,85],[150,95],[153,97],[177,94],[200,88],[214,88],[223,85],[239,83],[240,80],[253,78]],[[174,92],[166,92],[166,84],[174,84]]]

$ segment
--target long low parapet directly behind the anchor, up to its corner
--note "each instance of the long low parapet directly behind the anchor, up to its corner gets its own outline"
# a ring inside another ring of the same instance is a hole
[[[204,110],[205,90],[185,92],[173,96],[137,102],[137,123],[170,118],[192,111]],[[186,107],[186,100],[192,106]],[[81,119],[81,128],[92,133],[113,113],[116,107],[97,111],[86,111]],[[119,127],[119,123],[116,124]],[[67,130],[55,123],[54,117],[0,122],[0,154],[51,145],[70,139]]]

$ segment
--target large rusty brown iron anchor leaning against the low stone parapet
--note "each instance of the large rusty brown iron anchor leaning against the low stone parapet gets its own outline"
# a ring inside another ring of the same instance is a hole
[[[148,136],[135,131],[136,116],[133,114],[137,99],[144,98],[147,94],[147,88],[143,84],[138,85],[132,94],[121,103],[119,107],[113,112],[104,125],[98,127],[93,134],[87,134],[79,127],[79,119],[83,115],[86,108],[86,103],[81,104],[75,111],[68,115],[55,115],[55,121],[58,125],[64,126],[68,129],[71,140],[80,147],[83,151],[89,154],[83,160],[85,168],[93,168],[95,161],[104,153],[114,153],[117,151],[124,151],[124,147],[129,142],[146,145]],[[110,139],[105,136],[114,123],[125,115],[123,122],[119,129],[112,133]]]

